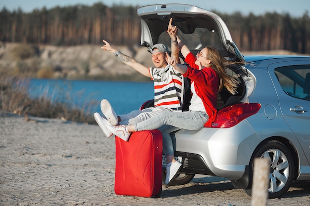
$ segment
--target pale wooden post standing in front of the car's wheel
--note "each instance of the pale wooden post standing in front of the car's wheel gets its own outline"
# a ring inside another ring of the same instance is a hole
[[[252,206],[267,206],[270,161],[265,158],[254,160]]]

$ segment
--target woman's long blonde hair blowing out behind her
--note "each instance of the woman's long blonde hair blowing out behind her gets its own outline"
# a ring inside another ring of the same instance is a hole
[[[218,91],[221,91],[223,86],[227,88],[227,90],[231,94],[237,93],[237,88],[239,82],[236,80],[236,78],[240,77],[240,75],[234,75],[229,76],[225,72],[225,68],[227,68],[229,65],[233,64],[244,64],[245,62],[233,62],[225,59],[216,48],[206,46],[207,48],[207,56],[206,58],[211,60],[211,68],[214,69],[219,77],[219,87]]]

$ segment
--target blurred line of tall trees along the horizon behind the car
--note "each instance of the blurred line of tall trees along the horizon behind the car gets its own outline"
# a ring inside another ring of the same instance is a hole
[[[310,54],[310,18],[288,13],[247,16],[216,12],[227,24],[240,50],[284,49]],[[0,41],[52,45],[98,44],[103,37],[121,45],[140,42],[141,23],[136,7],[77,4],[51,9],[0,11]]]

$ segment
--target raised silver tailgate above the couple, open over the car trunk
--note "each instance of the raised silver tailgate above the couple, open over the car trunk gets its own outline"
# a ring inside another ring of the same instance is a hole
[[[170,46],[166,33],[170,18],[178,27],[178,36],[193,53],[204,46],[213,46],[227,58],[244,61],[232,41],[224,21],[215,13],[187,4],[158,4],[137,8],[141,18],[141,45],[151,48],[155,43]]]

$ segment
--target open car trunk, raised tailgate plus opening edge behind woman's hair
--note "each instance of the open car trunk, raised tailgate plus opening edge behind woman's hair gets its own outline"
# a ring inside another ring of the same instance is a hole
[[[215,13],[187,4],[157,4],[139,7],[137,14],[141,18],[141,45],[149,50],[154,44],[163,43],[171,51],[171,40],[166,31],[172,18],[172,24],[178,27],[178,36],[192,53],[196,54],[205,46],[212,46],[231,61],[245,62],[226,24]],[[185,58],[182,54],[180,57],[183,60]],[[232,66],[226,72],[229,75],[241,74],[238,93],[232,95],[222,89],[218,93],[217,109],[246,102],[255,85],[255,78],[241,65]],[[247,87],[249,85],[251,87]]]

